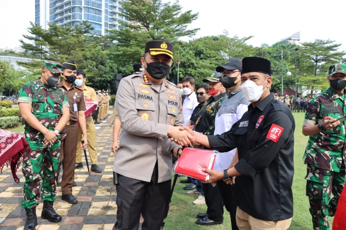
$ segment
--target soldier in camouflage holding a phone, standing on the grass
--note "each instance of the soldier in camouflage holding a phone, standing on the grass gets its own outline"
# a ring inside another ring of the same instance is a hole
[[[327,218],[334,216],[345,183],[345,121],[336,119],[346,115],[346,65],[332,65],[328,73],[330,87],[310,101],[303,124],[303,134],[310,136],[303,157],[306,195],[313,228],[320,230],[329,229]]]

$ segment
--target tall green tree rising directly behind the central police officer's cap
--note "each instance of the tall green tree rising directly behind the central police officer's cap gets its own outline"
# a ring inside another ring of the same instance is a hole
[[[142,57],[145,43],[150,40],[166,40],[179,49],[179,38],[183,36],[193,36],[199,30],[187,29],[189,24],[197,19],[198,13],[191,10],[182,12],[179,2],[163,3],[162,0],[130,0],[124,2],[123,6],[128,20],[133,23],[126,23],[119,20],[124,26],[120,30],[111,30],[108,38],[116,41],[112,48],[112,57],[119,64],[126,66],[128,63],[137,63]]]

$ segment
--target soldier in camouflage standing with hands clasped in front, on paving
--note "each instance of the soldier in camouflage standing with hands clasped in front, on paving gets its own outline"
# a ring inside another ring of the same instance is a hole
[[[45,61],[40,79],[28,82],[19,91],[18,104],[25,119],[24,136],[30,146],[30,153],[23,157],[22,172],[25,177],[22,208],[26,209],[27,220],[24,229],[35,229],[37,225],[36,206],[40,200],[42,184],[43,209],[41,218],[51,222],[61,221],[53,208],[56,176],[60,170],[60,143],[66,136],[64,127],[69,120],[69,103],[65,92],[56,87],[62,65]],[[51,152],[47,152],[49,144]],[[50,158],[52,157],[53,166]]]

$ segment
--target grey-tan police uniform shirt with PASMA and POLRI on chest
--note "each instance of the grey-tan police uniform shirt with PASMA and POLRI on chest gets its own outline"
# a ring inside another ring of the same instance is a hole
[[[163,79],[155,86],[144,75],[121,79],[116,107],[121,122],[119,149],[113,171],[150,182],[156,161],[158,182],[171,179],[171,150],[179,147],[167,138],[169,125],[182,126],[180,89]]]

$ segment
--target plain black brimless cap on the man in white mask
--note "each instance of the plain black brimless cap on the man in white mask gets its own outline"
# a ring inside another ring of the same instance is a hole
[[[258,58],[258,57],[246,57],[242,60],[242,74],[243,73],[249,73],[249,72],[260,72],[260,73],[266,73],[270,76],[271,73],[271,63],[269,60],[265,58]]]

